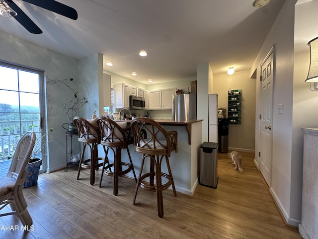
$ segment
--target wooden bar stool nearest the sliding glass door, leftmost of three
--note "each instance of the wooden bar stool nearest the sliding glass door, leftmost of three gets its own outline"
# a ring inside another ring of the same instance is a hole
[[[82,168],[90,168],[90,184],[93,185],[95,183],[95,170],[98,170],[103,165],[103,159],[98,158],[97,150],[97,145],[100,144],[100,133],[97,126],[90,123],[87,119],[76,116],[73,122],[79,131],[78,140],[83,143],[77,179],[79,180],[79,173]],[[90,158],[84,160],[86,146],[90,149]]]

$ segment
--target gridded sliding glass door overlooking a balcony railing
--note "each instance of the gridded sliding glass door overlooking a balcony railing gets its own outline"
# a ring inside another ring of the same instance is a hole
[[[25,132],[33,130],[37,138],[42,137],[45,128],[43,92],[43,72],[0,62],[0,163],[9,164],[7,160]],[[41,152],[38,157],[44,159],[44,155]],[[43,169],[45,162],[42,161]],[[3,173],[5,168],[0,167],[0,174]]]

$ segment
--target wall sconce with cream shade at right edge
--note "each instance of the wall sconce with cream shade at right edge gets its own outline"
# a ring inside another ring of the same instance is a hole
[[[318,82],[318,37],[308,42],[310,47],[310,63],[305,82]]]

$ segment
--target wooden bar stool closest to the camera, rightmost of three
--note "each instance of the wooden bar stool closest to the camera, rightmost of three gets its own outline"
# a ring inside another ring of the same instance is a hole
[[[158,122],[145,117],[132,119],[130,125],[134,135],[135,151],[143,154],[133,204],[135,204],[139,186],[148,191],[156,191],[158,216],[162,218],[162,191],[172,185],[173,195],[177,196],[169,165],[171,152],[177,152],[177,131],[166,131]],[[151,160],[150,171],[143,174],[145,159],[148,157]],[[168,174],[161,172],[163,157],[166,161]],[[164,184],[162,184],[162,177],[167,179]],[[145,180],[146,178],[149,180]]]

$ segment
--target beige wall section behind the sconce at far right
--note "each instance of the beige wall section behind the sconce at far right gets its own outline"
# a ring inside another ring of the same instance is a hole
[[[304,14],[306,12],[306,14]],[[303,168],[303,142],[304,133],[301,127],[318,127],[318,91],[310,90],[310,83],[305,79],[308,74],[310,50],[307,42],[318,36],[318,1],[305,2],[295,7],[295,59],[294,59],[294,94],[293,94],[293,135],[292,135],[292,177],[291,185],[299,185],[302,182]],[[310,30],[307,35],[311,37],[304,39],[304,30]],[[300,43],[297,39],[303,39]],[[305,50],[305,51],[304,51]],[[300,181],[300,182],[299,182]],[[301,192],[292,190],[291,206],[301,204],[298,196]],[[291,217],[296,217],[291,210]]]

